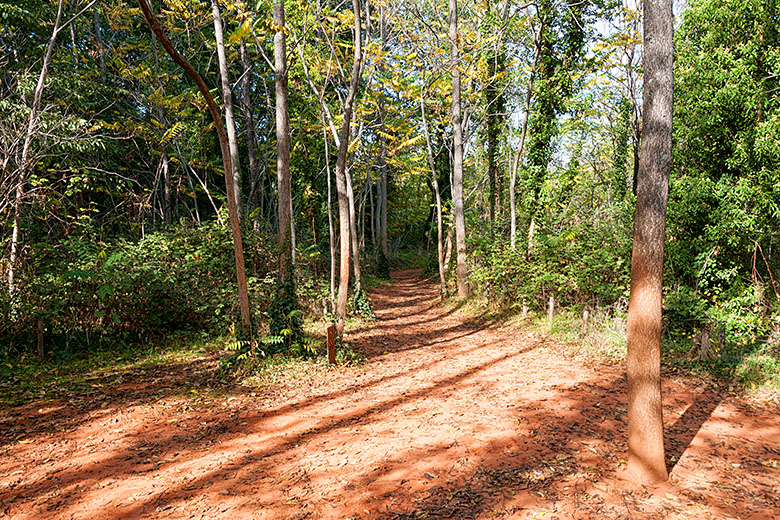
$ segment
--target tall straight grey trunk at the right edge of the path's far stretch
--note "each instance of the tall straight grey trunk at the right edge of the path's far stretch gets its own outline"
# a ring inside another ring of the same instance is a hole
[[[458,255],[458,296],[469,294],[466,264],[466,218],[463,213],[463,123],[460,114],[460,56],[458,42],[458,2],[449,0],[450,69],[452,70],[453,174],[452,205],[455,212],[455,242]]]

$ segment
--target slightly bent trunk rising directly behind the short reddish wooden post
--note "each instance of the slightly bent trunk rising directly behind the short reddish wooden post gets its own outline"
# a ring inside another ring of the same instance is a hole
[[[347,151],[349,148],[349,130],[352,121],[352,108],[355,103],[358,85],[360,83],[361,55],[363,43],[361,40],[360,0],[352,0],[352,11],[355,15],[354,54],[352,61],[352,74],[349,79],[349,90],[344,100],[344,121],[341,124],[341,137],[339,141],[339,153],[336,157],[336,191],[339,199],[339,233],[341,240],[340,266],[339,266],[339,292],[336,301],[336,332],[339,336],[344,333],[344,319],[347,314],[347,296],[349,291],[349,198],[347,196]]]

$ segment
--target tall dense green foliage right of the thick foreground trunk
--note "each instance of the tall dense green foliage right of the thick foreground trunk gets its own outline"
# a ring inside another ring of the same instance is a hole
[[[777,374],[777,21],[775,2],[696,0],[675,35],[667,353],[748,384]],[[705,326],[713,352],[699,360]]]

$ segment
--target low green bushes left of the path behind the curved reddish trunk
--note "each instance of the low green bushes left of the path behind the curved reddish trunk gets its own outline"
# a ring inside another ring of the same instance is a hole
[[[250,300],[270,300],[269,241],[244,242]],[[174,330],[227,332],[238,315],[232,239],[216,223],[139,242],[67,238],[32,244],[24,283],[0,324],[0,343],[17,354],[34,345],[35,321],[53,355],[116,341],[145,341]],[[263,307],[254,309],[262,312]],[[10,352],[9,352],[10,353]]]

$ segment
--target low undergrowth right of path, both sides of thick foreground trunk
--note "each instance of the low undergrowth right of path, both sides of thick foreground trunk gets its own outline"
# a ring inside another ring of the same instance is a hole
[[[512,250],[504,239],[474,234],[469,243],[471,282],[478,299],[518,315],[525,303],[529,323],[549,331],[553,297],[550,332],[580,352],[622,359],[630,225],[595,220],[540,227],[531,253],[525,247]],[[670,249],[675,251],[675,245]],[[697,288],[680,283],[679,270],[670,261],[666,271],[671,282],[664,290],[663,365],[730,378],[748,390],[780,396],[780,319],[771,285],[732,271],[732,276],[720,274],[720,284]]]

